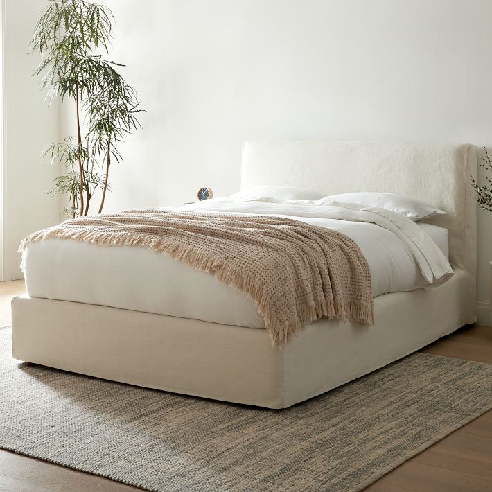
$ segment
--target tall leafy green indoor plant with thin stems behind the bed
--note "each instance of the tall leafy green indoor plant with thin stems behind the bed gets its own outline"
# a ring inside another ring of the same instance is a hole
[[[139,101],[118,67],[100,53],[108,53],[112,12],[85,0],[49,0],[32,42],[42,61],[35,74],[42,76],[49,100],[60,97],[73,104],[76,135],[53,143],[46,150],[58,158],[65,172],[55,179],[53,191],[69,195],[66,212],[85,216],[97,188],[102,193],[101,213],[109,188],[112,161],[120,161],[118,144],[139,128]]]

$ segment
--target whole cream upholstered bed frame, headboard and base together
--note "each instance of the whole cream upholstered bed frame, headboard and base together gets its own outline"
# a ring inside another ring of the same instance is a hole
[[[437,288],[374,299],[374,326],[320,319],[283,351],[264,329],[68,301],[12,300],[12,354],[99,378],[283,408],[397,360],[476,320],[474,146],[326,141],[247,142],[241,187],[387,191],[445,216],[455,275]],[[53,272],[53,274],[56,274]]]

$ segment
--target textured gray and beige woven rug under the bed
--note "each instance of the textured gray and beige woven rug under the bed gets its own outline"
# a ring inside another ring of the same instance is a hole
[[[150,491],[358,491],[491,407],[492,364],[423,353],[275,411],[28,367],[0,330],[0,448]]]

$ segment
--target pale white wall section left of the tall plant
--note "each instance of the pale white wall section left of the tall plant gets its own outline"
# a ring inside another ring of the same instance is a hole
[[[50,168],[41,157],[44,146],[58,140],[58,103],[47,107],[38,80],[30,76],[39,60],[28,54],[33,29],[44,5],[39,0],[1,2],[1,280],[21,278],[21,258],[17,253],[21,239],[56,224],[60,214],[59,200],[48,195],[59,168]]]

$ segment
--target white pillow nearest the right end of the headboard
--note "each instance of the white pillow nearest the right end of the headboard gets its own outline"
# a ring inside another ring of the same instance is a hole
[[[414,222],[425,217],[446,213],[423,200],[394,195],[393,193],[375,193],[370,191],[362,193],[342,193],[341,195],[330,195],[324,197],[323,200],[319,200],[319,202],[331,201],[356,203],[367,205],[368,207],[391,210],[414,220]]]

